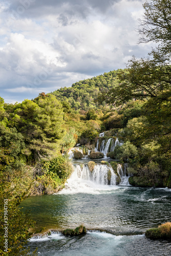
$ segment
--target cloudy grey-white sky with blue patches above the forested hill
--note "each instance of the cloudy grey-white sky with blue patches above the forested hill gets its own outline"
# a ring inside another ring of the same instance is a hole
[[[144,2],[1,1],[0,96],[21,102],[147,56],[136,31]]]

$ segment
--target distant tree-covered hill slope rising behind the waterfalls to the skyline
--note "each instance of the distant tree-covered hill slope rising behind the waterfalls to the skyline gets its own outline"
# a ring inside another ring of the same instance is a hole
[[[68,102],[75,110],[101,109],[105,106],[105,102],[99,104],[96,101],[99,92],[108,91],[117,86],[117,74],[119,71],[110,71],[103,75],[73,83],[72,87],[60,88],[52,94],[58,100]]]

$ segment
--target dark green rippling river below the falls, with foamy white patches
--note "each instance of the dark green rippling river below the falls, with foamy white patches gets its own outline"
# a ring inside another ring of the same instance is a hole
[[[171,189],[99,184],[73,176],[54,195],[31,197],[20,205],[29,209],[38,228],[75,228],[83,224],[87,234],[65,237],[52,232],[32,238],[38,255],[170,256],[171,243],[145,238],[143,232],[171,220]]]

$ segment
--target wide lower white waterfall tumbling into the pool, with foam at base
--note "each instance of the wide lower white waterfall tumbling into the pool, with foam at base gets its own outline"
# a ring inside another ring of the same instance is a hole
[[[110,186],[108,185],[109,171],[111,172]],[[121,180],[119,185],[130,185],[128,181],[130,176],[128,177],[123,173],[121,164],[118,164],[117,172]],[[74,165],[73,174],[65,184],[65,188],[62,189],[58,194],[100,194],[104,190],[117,189],[116,180],[117,175],[114,173],[111,165],[108,166],[106,164],[96,164],[93,172],[91,172],[87,164],[76,164]]]

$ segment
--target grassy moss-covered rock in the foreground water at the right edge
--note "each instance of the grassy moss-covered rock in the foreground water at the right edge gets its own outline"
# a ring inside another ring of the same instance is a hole
[[[145,236],[151,239],[169,239],[171,240],[171,222],[166,222],[158,226],[146,230]]]

